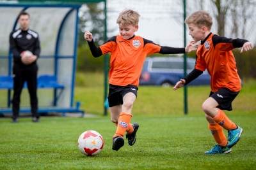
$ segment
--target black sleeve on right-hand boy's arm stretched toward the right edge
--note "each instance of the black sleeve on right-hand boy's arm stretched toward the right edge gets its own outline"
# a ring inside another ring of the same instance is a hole
[[[240,39],[240,38],[232,39],[232,38],[226,38],[218,35],[212,36],[212,42],[214,46],[218,43],[232,43],[234,48],[239,48],[239,47],[242,47],[244,43],[246,43],[247,41],[248,40],[246,39]]]

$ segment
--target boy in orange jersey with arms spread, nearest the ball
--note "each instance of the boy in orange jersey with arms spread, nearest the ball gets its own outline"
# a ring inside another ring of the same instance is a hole
[[[196,50],[193,42],[186,48],[159,46],[147,39],[135,36],[138,31],[139,13],[133,10],[122,11],[116,20],[120,35],[113,36],[103,45],[95,46],[92,33],[86,31],[84,39],[88,41],[94,57],[111,53],[109,69],[109,110],[111,121],[116,124],[113,136],[113,150],[124,146],[124,134],[130,146],[136,141],[139,125],[131,124],[132,106],[137,97],[139,78],[143,62],[152,53],[185,53]]]

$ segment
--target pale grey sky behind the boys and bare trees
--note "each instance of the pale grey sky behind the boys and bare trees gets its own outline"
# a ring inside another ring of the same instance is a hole
[[[256,0],[252,0],[255,1]],[[139,31],[136,34],[143,38],[150,39],[159,45],[168,46],[183,46],[184,45],[184,33],[183,33],[183,8],[181,0],[108,0],[108,30],[114,30],[108,34],[108,37],[118,34],[118,25],[116,24],[116,18],[120,11],[125,9],[136,10],[140,13]],[[204,9],[212,12],[212,6],[209,5],[209,1],[204,1]],[[199,7],[199,6],[198,6]],[[199,10],[195,6],[195,0],[187,0],[188,13]],[[255,8],[248,6],[249,8]],[[211,13],[211,15],[213,15]],[[251,14],[255,16],[255,13]],[[256,16],[255,16],[256,17]],[[255,17],[248,18],[250,22],[246,25],[246,37],[245,38],[253,43],[256,42],[256,29]],[[230,17],[229,17],[230,18]],[[254,19],[253,19],[254,18]],[[227,24],[232,24],[230,19],[227,19]],[[213,22],[212,32],[216,33],[216,21]],[[253,26],[254,25],[254,26]],[[239,27],[244,25],[239,25]],[[234,38],[230,35],[230,27],[227,27],[227,37]],[[192,40],[188,34],[187,29],[187,42]]]

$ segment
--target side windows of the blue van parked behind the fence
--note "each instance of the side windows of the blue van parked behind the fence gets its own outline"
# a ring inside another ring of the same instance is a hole
[[[188,69],[193,69],[194,65],[195,64],[188,62],[187,67]],[[183,62],[182,61],[153,61],[152,69],[183,69]]]

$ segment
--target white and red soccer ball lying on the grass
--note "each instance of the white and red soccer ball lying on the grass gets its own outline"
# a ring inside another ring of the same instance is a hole
[[[96,131],[85,131],[78,138],[78,148],[84,155],[96,155],[102,151],[103,146],[103,138]]]

